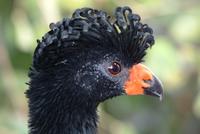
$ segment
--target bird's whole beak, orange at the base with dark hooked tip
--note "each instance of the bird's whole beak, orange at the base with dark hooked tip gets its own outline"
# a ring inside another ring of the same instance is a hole
[[[163,88],[160,80],[144,65],[133,65],[129,78],[124,84],[127,95],[151,95],[162,99]]]

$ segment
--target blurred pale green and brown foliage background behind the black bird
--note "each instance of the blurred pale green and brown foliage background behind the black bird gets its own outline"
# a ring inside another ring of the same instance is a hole
[[[122,96],[99,108],[100,134],[200,134],[199,0],[0,0],[0,134],[27,134],[27,73],[49,28],[80,7],[130,6],[153,29],[146,64],[164,99]]]

